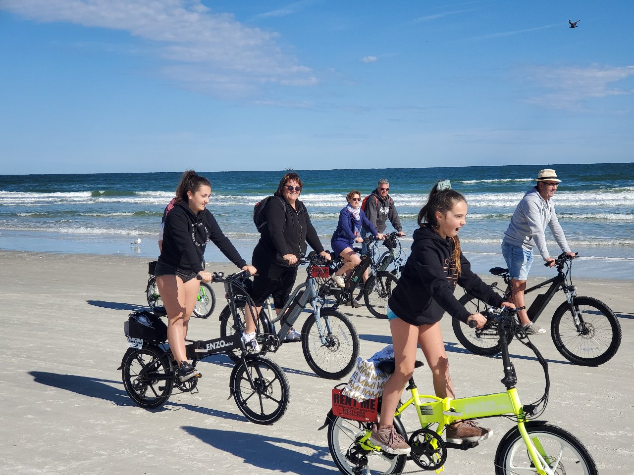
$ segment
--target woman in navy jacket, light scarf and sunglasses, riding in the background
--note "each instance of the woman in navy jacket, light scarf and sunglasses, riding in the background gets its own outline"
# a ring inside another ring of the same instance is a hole
[[[344,260],[341,268],[331,276],[335,284],[342,288],[346,286],[344,274],[361,263],[361,258],[353,250],[354,243],[363,242],[361,227],[369,229],[376,238],[383,239],[383,234],[374,229],[370,220],[361,210],[361,194],[354,189],[346,195],[346,200],[348,205],[339,212],[339,224],[337,224],[337,229],[330,239],[333,252]],[[366,276],[363,278],[365,280]],[[351,305],[361,307],[361,304],[354,299],[351,300]]]

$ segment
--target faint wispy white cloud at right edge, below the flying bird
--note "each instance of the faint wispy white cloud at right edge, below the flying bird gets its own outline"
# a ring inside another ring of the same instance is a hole
[[[523,72],[529,82],[545,90],[545,94],[533,96],[527,102],[548,109],[574,109],[590,98],[622,96],[634,92],[631,89],[609,87],[612,82],[634,76],[634,66],[534,66],[525,68]]]

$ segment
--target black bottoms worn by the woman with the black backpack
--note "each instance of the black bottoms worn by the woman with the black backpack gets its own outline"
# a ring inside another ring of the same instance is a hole
[[[249,296],[257,307],[261,307],[269,295],[273,295],[275,308],[283,308],[290,291],[295,285],[297,267],[285,267],[270,263],[269,265],[254,265],[257,267],[257,275],[253,277],[253,286]]]

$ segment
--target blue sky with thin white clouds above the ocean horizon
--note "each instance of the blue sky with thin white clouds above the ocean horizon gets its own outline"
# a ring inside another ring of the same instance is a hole
[[[633,13],[0,0],[3,173],[631,162]]]

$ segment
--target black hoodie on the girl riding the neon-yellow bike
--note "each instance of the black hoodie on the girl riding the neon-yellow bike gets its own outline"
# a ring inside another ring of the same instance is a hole
[[[462,270],[460,276],[456,276],[451,258],[452,239],[441,238],[427,224],[414,231],[413,239],[411,255],[387,302],[400,319],[412,325],[429,325],[438,322],[447,312],[467,322],[469,312],[453,295],[456,283],[489,305],[500,307],[503,298],[471,272],[471,264],[462,253]]]

